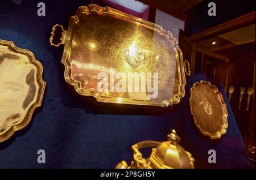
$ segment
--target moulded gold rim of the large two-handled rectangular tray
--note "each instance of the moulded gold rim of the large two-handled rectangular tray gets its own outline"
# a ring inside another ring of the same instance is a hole
[[[147,22],[146,20],[137,18],[135,16],[131,16],[129,14],[115,10],[114,8],[111,8],[108,6],[101,7],[101,6],[92,4],[89,6],[79,7],[76,12],[76,15],[72,16],[69,21],[68,31],[65,31],[65,30],[63,31],[64,37],[61,39],[60,44],[64,44],[65,46],[64,46],[64,53],[63,53],[63,58],[62,58],[61,62],[65,66],[64,78],[65,78],[66,82],[73,85],[75,87],[76,92],[82,96],[93,96],[96,98],[97,101],[100,101],[100,102],[111,102],[111,103],[117,103],[117,104],[120,103],[118,97],[102,96],[102,95],[99,95],[98,92],[95,92],[95,91],[82,92],[79,88],[80,83],[76,82],[75,80],[73,80],[71,78],[71,66],[67,62],[67,59],[68,59],[67,52],[68,52],[69,46],[71,45],[70,38],[71,38],[71,34],[72,34],[73,25],[76,24],[77,22],[79,22],[82,14],[89,15],[90,12],[93,12],[93,11],[97,12],[98,14],[101,14],[101,15],[102,14],[111,14],[113,16],[116,16],[117,18],[126,19],[130,22],[137,22],[138,24],[140,24],[144,27],[147,27],[154,31],[158,31],[160,34],[166,36],[167,40],[175,41],[175,44],[177,45],[178,53],[176,54],[176,56],[177,56],[177,62],[176,62],[177,74],[176,75],[178,75],[179,82],[177,85],[175,85],[175,86],[177,86],[177,89],[176,89],[176,92],[174,93],[173,98],[171,100],[166,100],[162,103],[160,103],[160,102],[148,103],[149,101],[147,101],[147,100],[130,100],[129,98],[127,98],[127,99],[122,98],[122,104],[155,105],[155,106],[168,106],[171,103],[178,104],[180,102],[180,99],[185,96],[185,85],[187,83],[186,83],[186,79],[185,79],[185,69],[184,69],[185,64],[183,62],[183,55],[182,55],[181,49],[178,46],[178,42],[177,42],[176,38],[172,35],[172,33],[170,31],[164,30],[160,25],[156,25],[154,23]],[[51,33],[52,38],[53,38],[53,36],[54,36],[54,32],[53,32],[53,34]]]

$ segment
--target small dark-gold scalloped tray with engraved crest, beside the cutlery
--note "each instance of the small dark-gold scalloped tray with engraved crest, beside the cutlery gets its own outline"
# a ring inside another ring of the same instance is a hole
[[[215,85],[201,80],[191,88],[189,98],[191,113],[196,126],[211,139],[220,138],[228,128],[228,110]]]

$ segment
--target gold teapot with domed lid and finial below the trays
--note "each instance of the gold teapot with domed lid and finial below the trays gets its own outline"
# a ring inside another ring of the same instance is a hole
[[[176,131],[172,130],[167,135],[167,142],[155,142],[152,140],[145,140],[134,144],[133,161],[131,166],[128,166],[126,161],[119,162],[116,169],[191,169],[194,168],[195,159],[191,153],[185,151],[178,143],[180,137],[176,135]],[[143,158],[139,149],[152,148],[149,158]]]

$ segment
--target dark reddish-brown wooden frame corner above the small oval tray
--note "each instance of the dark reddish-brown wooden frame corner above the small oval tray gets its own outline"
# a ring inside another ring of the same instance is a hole
[[[250,12],[246,15],[240,16],[239,18],[230,20],[229,22],[217,25],[216,27],[207,29],[203,32],[189,36],[189,40],[191,40],[191,43],[192,43],[191,61],[190,61],[191,78],[193,79],[193,75],[195,72],[197,43],[199,41],[203,41],[211,37],[222,35],[223,33],[234,31],[236,29],[246,27],[247,25],[251,25],[251,24],[255,24],[255,11]]]

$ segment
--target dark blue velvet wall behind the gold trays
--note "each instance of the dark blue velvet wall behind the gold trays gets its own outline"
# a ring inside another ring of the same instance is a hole
[[[38,2],[46,3],[46,16],[37,16]],[[30,125],[0,144],[0,168],[114,168],[121,160],[131,161],[131,145],[167,140],[171,128],[195,157],[196,168],[254,168],[228,103],[226,134],[220,140],[209,140],[199,133],[189,113],[189,82],[186,96],[174,108],[102,104],[76,95],[64,80],[63,48],[50,46],[48,39],[55,23],[67,29],[77,7],[89,3],[23,0],[19,6],[1,1],[0,38],[34,53],[44,66],[47,89]],[[191,83],[199,80],[195,77]],[[38,164],[38,149],[46,151],[46,164]],[[217,152],[216,164],[207,161],[209,149]]]

